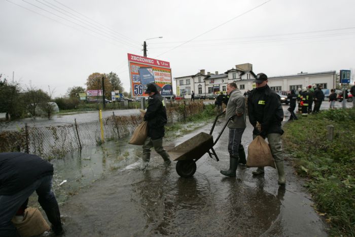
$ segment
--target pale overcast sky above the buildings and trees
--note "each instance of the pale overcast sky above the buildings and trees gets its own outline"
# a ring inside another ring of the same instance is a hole
[[[0,0],[0,74],[60,96],[112,71],[130,91],[127,53],[160,36],[148,57],[169,61],[172,77],[246,62],[269,77],[355,70],[354,10],[353,0]]]

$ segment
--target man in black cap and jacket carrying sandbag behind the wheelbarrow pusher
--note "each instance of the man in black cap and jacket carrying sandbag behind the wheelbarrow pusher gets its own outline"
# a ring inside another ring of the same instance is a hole
[[[279,95],[267,85],[267,76],[259,73],[256,77],[256,89],[253,89],[248,97],[249,121],[254,126],[253,138],[260,135],[267,137],[271,154],[275,160],[278,173],[278,184],[286,183],[285,171],[283,168],[283,151],[281,146],[281,121],[283,110]],[[257,122],[261,124],[261,131],[256,127]],[[253,175],[264,173],[264,167],[258,167]]]

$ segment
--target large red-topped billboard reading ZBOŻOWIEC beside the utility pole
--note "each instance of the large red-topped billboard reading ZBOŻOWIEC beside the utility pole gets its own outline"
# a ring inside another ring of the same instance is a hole
[[[128,66],[132,97],[148,97],[145,91],[149,83],[157,84],[162,96],[172,96],[169,62],[128,53]]]

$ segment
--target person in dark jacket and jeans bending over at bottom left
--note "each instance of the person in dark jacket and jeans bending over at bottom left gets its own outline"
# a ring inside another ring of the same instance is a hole
[[[36,191],[56,235],[63,233],[57,200],[51,190],[53,165],[37,155],[0,153],[0,236],[18,236],[11,219]]]

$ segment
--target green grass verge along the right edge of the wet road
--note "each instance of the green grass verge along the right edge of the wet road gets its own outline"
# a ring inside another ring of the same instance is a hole
[[[327,125],[334,126],[333,141]],[[330,234],[355,236],[355,109],[328,110],[284,126],[285,150],[296,171],[307,178],[316,209],[330,223]]]

